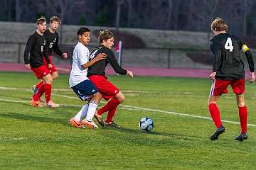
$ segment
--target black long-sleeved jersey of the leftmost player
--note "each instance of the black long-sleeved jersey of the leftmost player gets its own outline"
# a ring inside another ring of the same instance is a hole
[[[28,38],[28,42],[26,43],[26,48],[24,51],[25,64],[30,64],[31,68],[37,68],[43,65],[45,46],[45,36],[40,35],[37,32],[33,33],[33,35]],[[50,63],[48,57],[46,57],[46,62]]]

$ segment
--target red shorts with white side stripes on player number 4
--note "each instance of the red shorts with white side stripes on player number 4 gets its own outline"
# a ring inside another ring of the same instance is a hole
[[[221,94],[228,94],[228,85],[231,85],[235,94],[245,93],[245,79],[235,80],[213,80],[210,88],[210,96],[220,96]]]

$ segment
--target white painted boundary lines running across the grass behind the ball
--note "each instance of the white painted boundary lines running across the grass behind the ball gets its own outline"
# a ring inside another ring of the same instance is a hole
[[[8,88],[8,87],[0,87],[0,89],[28,91],[28,89],[16,89],[16,88]],[[73,98],[73,99],[80,100],[78,97],[73,97],[73,96],[65,96],[65,95],[60,95],[60,94],[52,94],[52,95],[53,96],[60,96],[60,97],[64,97],[64,98]],[[13,103],[28,103],[28,101],[12,101],[12,100],[6,100],[6,99],[2,99],[2,98],[0,98],[0,101],[13,102]],[[105,101],[101,101],[101,102],[106,103]],[[68,104],[60,104],[60,106],[81,107],[81,106],[78,106],[78,105],[68,105]],[[176,112],[173,112],[173,111],[161,111],[159,109],[141,108],[141,107],[137,107],[137,106],[129,106],[129,105],[123,105],[123,104],[121,104],[120,106],[123,107],[121,109],[125,109],[125,110],[168,113],[168,114],[172,114],[172,115],[180,115],[180,116],[183,116],[183,117],[200,118],[200,119],[205,119],[205,120],[211,120],[211,118],[201,116],[201,115],[190,115],[190,114],[186,114],[186,113],[176,113]],[[235,121],[230,121],[230,120],[222,120],[222,121],[225,122],[225,123],[232,123],[232,124],[240,125],[240,122],[235,122]],[[253,125],[253,124],[247,124],[247,125],[252,126],[252,127],[256,127],[256,125]]]

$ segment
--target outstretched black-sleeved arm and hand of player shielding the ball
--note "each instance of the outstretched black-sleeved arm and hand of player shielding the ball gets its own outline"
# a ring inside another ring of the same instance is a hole
[[[123,69],[121,66],[119,66],[114,56],[114,52],[112,52],[112,50],[107,51],[107,62],[110,63],[111,67],[114,69],[114,72],[122,75],[127,74],[131,78],[133,77],[133,74],[131,71]]]

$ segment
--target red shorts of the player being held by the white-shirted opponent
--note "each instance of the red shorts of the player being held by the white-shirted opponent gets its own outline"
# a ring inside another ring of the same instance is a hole
[[[92,75],[89,77],[89,79],[97,87],[100,94],[102,94],[102,98],[104,98],[106,101],[116,96],[120,91],[116,86],[107,80],[107,77],[102,75]]]

